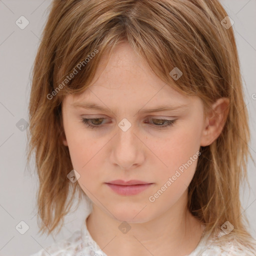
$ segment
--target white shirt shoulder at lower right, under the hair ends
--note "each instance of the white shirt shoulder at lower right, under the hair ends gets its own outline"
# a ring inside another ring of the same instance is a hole
[[[201,244],[198,249],[201,256],[255,256],[256,240],[243,241],[234,233],[220,233],[217,237]]]

